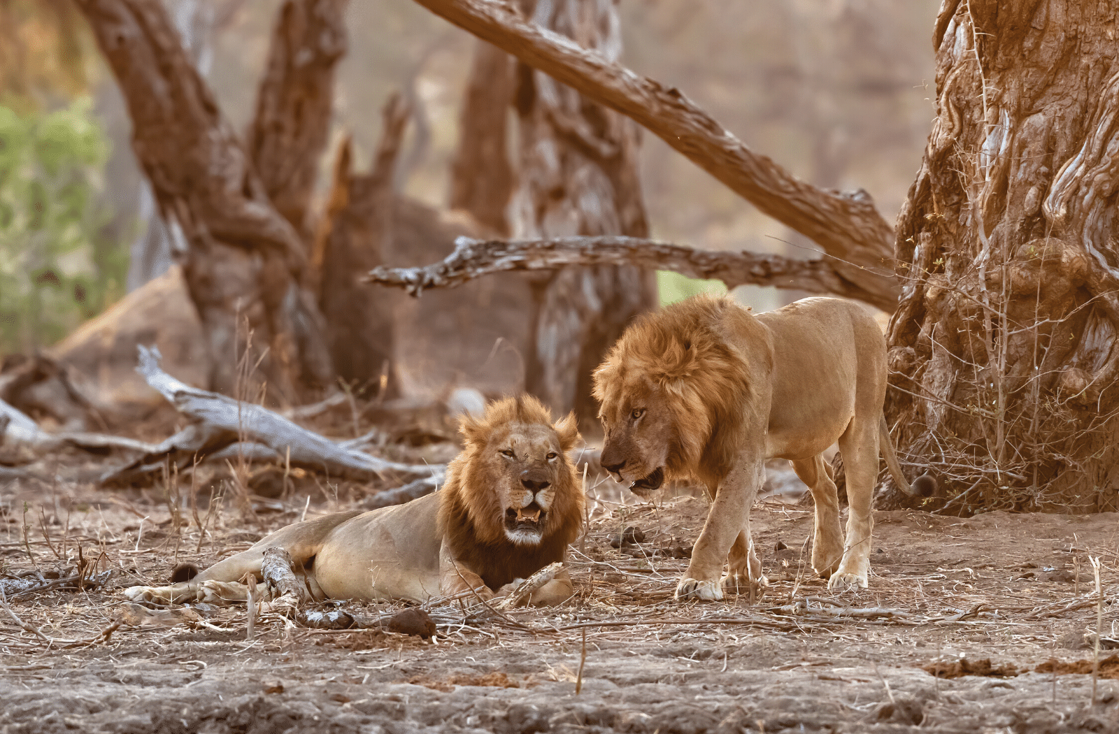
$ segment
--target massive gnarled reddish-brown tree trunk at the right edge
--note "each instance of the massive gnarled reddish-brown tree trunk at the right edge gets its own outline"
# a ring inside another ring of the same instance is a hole
[[[955,510],[1115,502],[1116,17],[1116,0],[946,0],[937,20],[887,412]]]

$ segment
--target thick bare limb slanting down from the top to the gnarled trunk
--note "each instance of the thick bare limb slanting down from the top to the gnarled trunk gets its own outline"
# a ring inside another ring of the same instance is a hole
[[[863,190],[825,190],[798,180],[750,150],[676,87],[634,74],[527,21],[499,0],[416,0],[583,95],[633,119],[692,162],[835,256],[835,272],[881,309],[893,311],[900,286],[888,261],[894,235]]]

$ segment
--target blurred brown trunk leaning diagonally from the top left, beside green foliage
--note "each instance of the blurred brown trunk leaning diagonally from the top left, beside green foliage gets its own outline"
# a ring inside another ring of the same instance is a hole
[[[299,399],[300,387],[331,374],[321,317],[299,283],[307,262],[299,236],[269,200],[162,4],[78,7],[124,94],[160,214],[188,243],[184,274],[214,356],[210,386],[238,387],[238,331],[247,323],[258,352],[248,360],[258,361],[270,394]]]

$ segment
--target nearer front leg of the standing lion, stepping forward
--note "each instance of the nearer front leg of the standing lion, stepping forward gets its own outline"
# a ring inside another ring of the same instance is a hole
[[[692,552],[687,573],[676,586],[677,599],[723,599],[721,580],[731,547],[739,534],[745,534],[747,542],[750,537],[750,506],[764,474],[764,463],[758,455],[741,458],[720,482],[703,533]]]

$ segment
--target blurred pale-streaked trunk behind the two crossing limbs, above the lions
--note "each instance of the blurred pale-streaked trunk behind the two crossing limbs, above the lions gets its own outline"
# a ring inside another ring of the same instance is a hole
[[[533,20],[608,60],[621,53],[612,0],[539,2]],[[640,132],[631,120],[524,63],[517,66],[516,106],[515,236],[647,236],[637,175]],[[594,430],[591,373],[629,321],[656,307],[653,275],[632,266],[568,267],[535,281],[533,294],[537,326],[526,355],[526,389],[553,411],[574,410]]]

